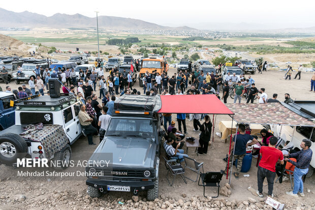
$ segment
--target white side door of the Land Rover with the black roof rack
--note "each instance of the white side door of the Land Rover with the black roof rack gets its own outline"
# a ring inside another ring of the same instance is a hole
[[[62,117],[64,117],[65,132],[71,143],[74,141],[78,133],[77,125],[75,124],[73,107],[67,107],[62,110]]]

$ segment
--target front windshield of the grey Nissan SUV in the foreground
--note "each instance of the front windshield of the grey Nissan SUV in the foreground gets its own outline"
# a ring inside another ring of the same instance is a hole
[[[151,120],[132,118],[112,118],[106,136],[153,137]]]

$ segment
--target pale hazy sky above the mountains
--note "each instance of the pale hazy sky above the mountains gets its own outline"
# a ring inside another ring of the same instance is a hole
[[[209,29],[220,25],[242,23],[265,29],[288,27],[314,27],[315,1],[313,0],[86,0],[1,1],[0,8],[13,12],[34,12],[46,16],[55,13],[76,13],[96,17],[99,15],[135,18],[165,26],[190,26]],[[240,24],[239,27],[242,27]]]

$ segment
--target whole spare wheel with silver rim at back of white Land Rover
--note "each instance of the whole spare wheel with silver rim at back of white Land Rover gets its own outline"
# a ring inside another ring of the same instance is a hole
[[[18,158],[24,158],[27,153],[27,144],[20,135],[6,133],[0,135],[0,162],[5,164],[16,163]]]

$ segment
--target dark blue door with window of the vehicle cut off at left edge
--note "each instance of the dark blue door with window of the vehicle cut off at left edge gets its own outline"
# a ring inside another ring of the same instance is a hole
[[[2,101],[2,117],[4,117],[5,126],[4,128],[10,127],[15,124],[15,110],[14,107],[10,106],[10,101],[14,100],[14,96],[7,96],[0,99]]]

